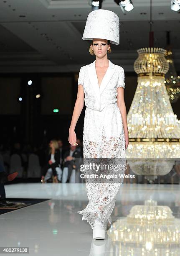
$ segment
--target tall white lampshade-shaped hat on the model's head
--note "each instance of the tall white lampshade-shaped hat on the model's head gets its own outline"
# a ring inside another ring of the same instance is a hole
[[[119,44],[119,17],[116,13],[98,9],[89,13],[84,28],[83,40],[107,39],[111,44]]]

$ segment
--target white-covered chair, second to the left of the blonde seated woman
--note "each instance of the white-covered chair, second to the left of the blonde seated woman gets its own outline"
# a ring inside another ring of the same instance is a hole
[[[18,154],[13,154],[10,157],[10,173],[18,172],[18,178],[23,177],[23,166]]]

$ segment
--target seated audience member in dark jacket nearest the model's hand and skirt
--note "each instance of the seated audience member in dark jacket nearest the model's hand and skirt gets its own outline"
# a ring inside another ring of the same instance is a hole
[[[75,177],[72,177],[73,171],[76,174],[76,178],[79,177],[78,173],[80,169],[80,162],[82,159],[81,153],[76,149],[76,146],[69,145],[69,150],[64,154],[63,162],[63,177],[62,182],[75,182]]]

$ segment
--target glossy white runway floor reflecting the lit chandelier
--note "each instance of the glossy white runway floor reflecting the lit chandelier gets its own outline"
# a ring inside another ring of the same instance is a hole
[[[5,190],[7,198],[50,200],[0,215],[0,247],[27,246],[26,255],[38,256],[180,255],[179,185],[122,184],[109,235],[97,242],[92,241],[89,223],[77,213],[87,204],[84,184],[11,184]],[[162,214],[173,220],[162,219],[158,225],[128,222],[132,207],[143,206],[146,200],[170,207],[172,212],[163,208]]]

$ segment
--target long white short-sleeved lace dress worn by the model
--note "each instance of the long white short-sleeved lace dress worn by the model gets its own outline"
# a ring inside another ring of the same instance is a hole
[[[78,85],[84,89],[84,159],[125,159],[122,116],[117,106],[117,87],[124,88],[124,69],[109,60],[109,67],[99,87],[95,61],[83,66]],[[106,228],[123,179],[118,183],[86,183],[88,205],[79,211],[82,219],[94,227],[96,220]]]

